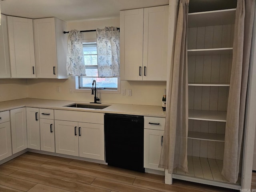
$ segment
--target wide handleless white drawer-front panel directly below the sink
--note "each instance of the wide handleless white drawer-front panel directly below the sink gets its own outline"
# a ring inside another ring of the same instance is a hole
[[[55,120],[104,124],[104,113],[54,110]]]

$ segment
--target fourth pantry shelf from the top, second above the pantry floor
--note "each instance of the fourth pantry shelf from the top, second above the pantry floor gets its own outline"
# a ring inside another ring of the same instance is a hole
[[[188,119],[226,122],[226,111],[188,110]]]

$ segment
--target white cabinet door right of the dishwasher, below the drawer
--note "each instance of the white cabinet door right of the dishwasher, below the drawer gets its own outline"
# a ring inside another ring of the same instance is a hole
[[[162,171],[164,170],[163,168],[158,168],[163,136],[164,136],[164,131],[162,130],[144,129],[144,167],[145,168],[162,170]]]

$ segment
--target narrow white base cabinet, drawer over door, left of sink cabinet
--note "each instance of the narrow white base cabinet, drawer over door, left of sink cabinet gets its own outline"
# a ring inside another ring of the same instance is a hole
[[[55,152],[54,110],[40,108],[39,113],[41,150]]]

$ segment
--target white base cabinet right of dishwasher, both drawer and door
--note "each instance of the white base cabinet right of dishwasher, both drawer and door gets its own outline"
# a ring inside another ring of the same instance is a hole
[[[144,116],[144,168],[158,168],[164,136],[165,118]]]

